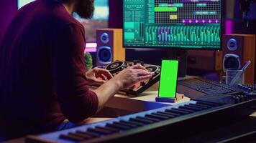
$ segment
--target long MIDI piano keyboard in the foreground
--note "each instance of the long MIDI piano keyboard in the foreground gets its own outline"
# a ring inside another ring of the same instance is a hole
[[[196,132],[197,129],[204,127],[204,124],[214,124],[221,118],[248,115],[252,112],[249,107],[253,104],[255,99],[237,104],[191,100],[73,129],[29,136],[26,142],[132,142],[144,137],[152,139],[151,141],[174,139],[178,137],[178,132],[186,134],[185,132],[191,128]],[[239,112],[240,110],[243,112]],[[224,119],[221,119],[222,121],[224,122]],[[171,137],[168,134],[175,135]]]

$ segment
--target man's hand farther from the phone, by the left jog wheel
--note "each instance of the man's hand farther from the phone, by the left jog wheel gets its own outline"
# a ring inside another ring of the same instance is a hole
[[[93,68],[86,72],[86,78],[91,85],[101,85],[111,79],[112,74],[106,69]]]

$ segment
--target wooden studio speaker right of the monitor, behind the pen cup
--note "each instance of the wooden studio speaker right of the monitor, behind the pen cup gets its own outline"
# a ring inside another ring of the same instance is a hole
[[[252,61],[244,73],[244,83],[253,84],[255,79],[255,35],[230,34],[223,36],[223,69],[241,69]]]

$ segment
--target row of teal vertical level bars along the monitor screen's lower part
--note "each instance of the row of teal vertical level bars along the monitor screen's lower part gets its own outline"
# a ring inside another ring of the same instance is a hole
[[[220,46],[219,26],[150,26],[145,42],[151,46],[216,47]]]

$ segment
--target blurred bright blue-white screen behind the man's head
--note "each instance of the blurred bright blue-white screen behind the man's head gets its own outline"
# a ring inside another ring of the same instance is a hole
[[[18,0],[18,9],[35,0]],[[109,26],[109,0],[95,0],[95,11],[92,19],[82,19],[78,14],[73,14],[86,29],[86,42],[96,42],[96,29]]]

